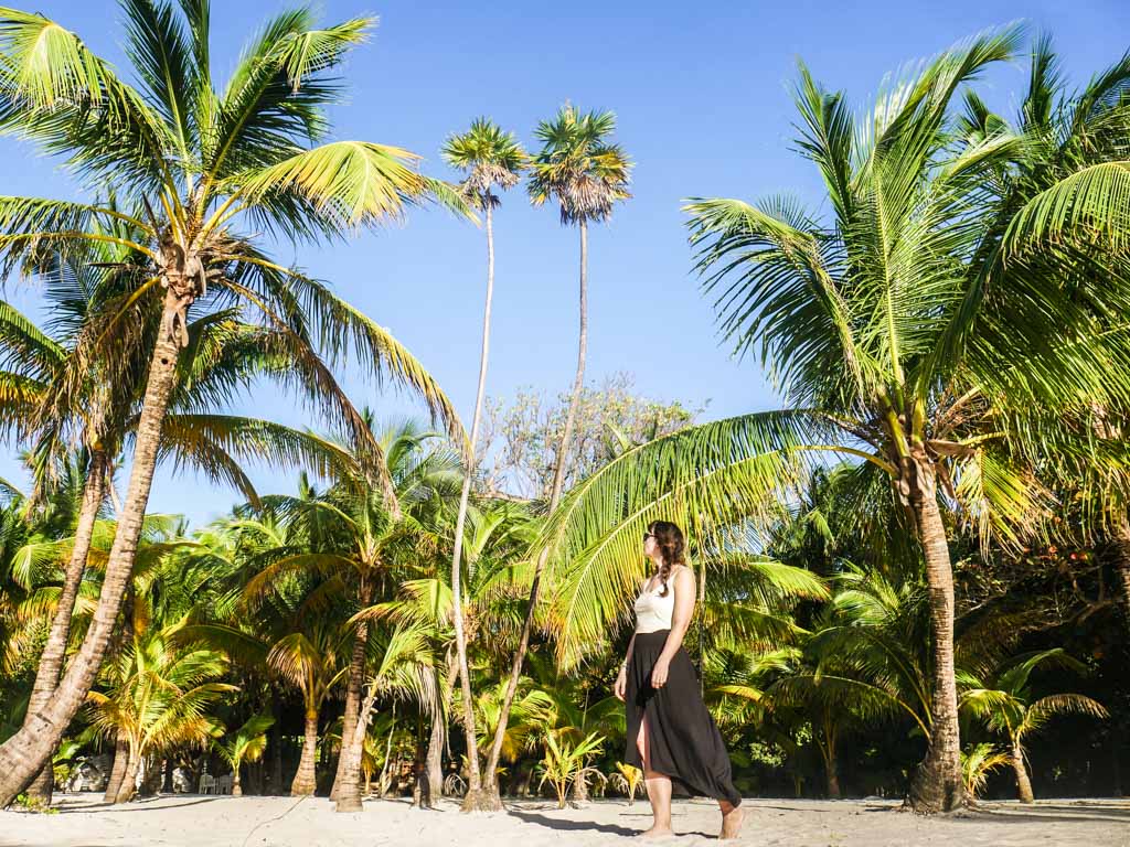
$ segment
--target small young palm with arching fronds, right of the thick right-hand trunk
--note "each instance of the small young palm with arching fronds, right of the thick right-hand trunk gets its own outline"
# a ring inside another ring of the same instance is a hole
[[[993,732],[1008,739],[1009,760],[1016,774],[1016,791],[1022,803],[1033,803],[1032,781],[1024,765],[1024,741],[1043,728],[1055,715],[1090,715],[1107,717],[1106,709],[1085,695],[1049,695],[1034,700],[1028,678],[1033,670],[1045,662],[1083,670],[1062,648],[1041,650],[1017,656],[999,667],[988,681],[972,673],[960,673],[960,708],[973,715]]]

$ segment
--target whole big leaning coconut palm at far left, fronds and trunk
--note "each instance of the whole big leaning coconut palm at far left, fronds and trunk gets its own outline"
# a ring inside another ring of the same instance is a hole
[[[207,0],[185,2],[180,14],[154,0],[123,0],[123,6],[136,85],[54,21],[0,10],[3,129],[63,155],[88,183],[137,198],[138,207],[127,213],[105,203],[5,198],[5,270],[34,270],[45,253],[90,242],[118,244],[146,257],[144,282],[107,316],[104,331],[90,333],[79,363],[113,365],[113,351],[129,344],[132,324],[122,316],[159,315],[98,612],[56,696],[0,746],[0,806],[47,761],[105,653],[194,304],[242,303],[259,313],[275,330],[276,352],[297,363],[295,375],[316,376],[320,404],[358,440],[365,428],[315,348],[332,358],[360,351],[375,372],[411,385],[433,411],[455,420],[424,369],[388,333],[321,283],[271,261],[240,229],[246,222],[252,230],[285,237],[334,238],[398,217],[429,193],[455,202],[445,186],[411,167],[416,157],[405,150],[364,141],[318,143],[329,130],[327,108],[341,96],[331,75],[364,41],[372,21],[320,28],[308,10],[284,12],[267,24],[218,90],[210,70]],[[106,376],[113,378],[113,367]],[[80,383],[77,376],[70,381]],[[376,455],[371,439],[363,443]],[[375,470],[373,475],[380,482]]]

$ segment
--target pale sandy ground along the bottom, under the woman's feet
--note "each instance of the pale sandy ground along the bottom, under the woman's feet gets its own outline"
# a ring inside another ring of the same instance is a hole
[[[1130,845],[1130,801],[1040,801],[1034,806],[986,803],[981,811],[923,819],[885,801],[746,801],[742,845],[776,847],[1105,847]],[[27,847],[598,847],[627,844],[650,822],[645,802],[593,802],[558,810],[539,801],[506,812],[462,815],[454,803],[436,811],[408,801],[368,801],[358,814],[337,814],[328,800],[307,797],[159,797],[111,807],[95,795],[68,796],[56,814],[0,812],[0,844]],[[680,833],[662,844],[715,841],[718,807],[677,802]]]

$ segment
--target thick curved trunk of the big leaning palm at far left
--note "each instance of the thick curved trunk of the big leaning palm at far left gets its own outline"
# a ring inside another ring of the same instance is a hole
[[[172,288],[166,292],[162,331],[154,346],[144,407],[138,420],[130,484],[106,562],[98,606],[82,646],[71,661],[55,695],[42,709],[28,715],[24,727],[0,745],[0,809],[10,805],[19,791],[51,758],[94,684],[110,636],[116,626],[153,487],[160,426],[176,378],[176,360],[181,350],[174,321],[179,320],[177,314],[188,303],[175,295]]]

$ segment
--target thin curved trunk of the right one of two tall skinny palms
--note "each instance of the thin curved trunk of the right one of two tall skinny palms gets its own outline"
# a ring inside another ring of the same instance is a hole
[[[560,446],[557,449],[557,462],[554,466],[554,484],[549,492],[549,508],[547,515],[553,515],[560,500],[562,487],[565,481],[565,462],[568,457],[568,447],[573,440],[573,425],[576,419],[576,408],[581,399],[581,390],[584,387],[584,361],[589,342],[589,227],[584,219],[581,219],[581,325],[577,334],[577,357],[576,375],[573,378],[573,393],[568,401],[568,412],[565,416],[565,431],[562,433]],[[498,761],[502,758],[502,745],[506,737],[506,724],[510,721],[510,709],[514,704],[514,696],[518,692],[518,682],[522,675],[522,665],[525,662],[527,650],[530,648],[530,634],[533,631],[533,617],[538,606],[538,596],[541,588],[541,574],[546,568],[549,558],[548,548],[538,556],[538,565],[533,571],[533,582],[530,585],[530,599],[525,609],[525,621],[522,623],[522,635],[518,641],[518,649],[514,652],[514,663],[510,669],[510,680],[506,683],[506,696],[502,701],[502,710],[498,714],[498,726],[495,730],[494,744],[490,746],[490,758],[487,760],[486,780],[484,788],[493,798],[493,807],[502,809],[502,800],[498,796]]]

